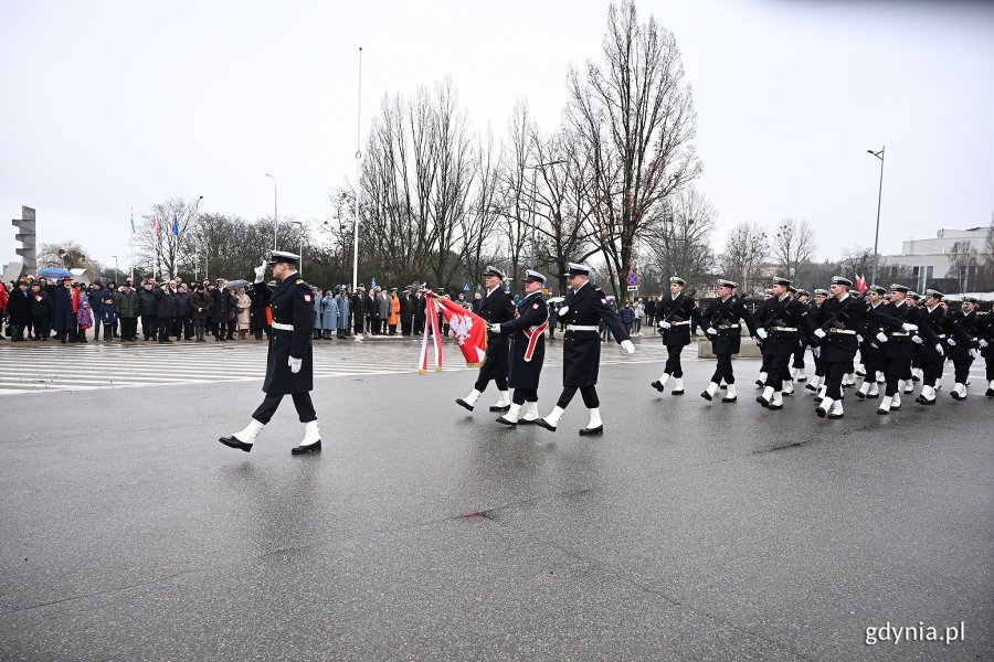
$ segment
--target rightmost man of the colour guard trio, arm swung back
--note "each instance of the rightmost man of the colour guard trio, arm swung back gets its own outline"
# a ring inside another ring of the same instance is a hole
[[[570,288],[559,309],[559,317],[565,321],[567,330],[562,344],[562,395],[556,407],[536,425],[556,431],[559,419],[570,401],[580,391],[583,404],[590,409],[590,423],[580,435],[602,435],[601,401],[598,398],[598,370],[601,365],[601,339],[598,322],[603,321],[617,343],[630,354],[635,352],[617,313],[607,305],[607,295],[590,284],[590,267],[570,263],[564,274]]]

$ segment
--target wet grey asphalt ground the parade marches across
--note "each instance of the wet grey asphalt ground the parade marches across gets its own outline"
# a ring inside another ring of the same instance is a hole
[[[826,420],[761,408],[755,360],[705,402],[690,349],[659,394],[660,344],[604,345],[589,438],[579,397],[556,433],[494,423],[493,386],[458,407],[452,342],[429,375],[413,341],[320,342],[324,451],[292,457],[288,399],[218,442],[260,343],[3,343],[0,660],[994,659],[982,365],[965,402],[948,370],[935,406]]]

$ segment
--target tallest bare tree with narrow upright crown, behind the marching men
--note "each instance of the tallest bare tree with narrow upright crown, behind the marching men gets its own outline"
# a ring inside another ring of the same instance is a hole
[[[673,34],[635,3],[609,9],[604,64],[569,77],[568,117],[590,154],[588,184],[612,287],[633,267],[654,207],[691,182],[701,164],[691,145],[697,116]]]

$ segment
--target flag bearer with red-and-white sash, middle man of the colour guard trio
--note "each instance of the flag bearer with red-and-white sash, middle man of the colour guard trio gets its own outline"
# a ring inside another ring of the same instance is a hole
[[[510,410],[497,419],[504,425],[530,425],[538,416],[538,383],[546,357],[546,329],[549,307],[542,297],[546,277],[528,269],[525,297],[518,302],[515,319],[490,324],[493,333],[510,338],[510,370],[507,385],[515,389]]]

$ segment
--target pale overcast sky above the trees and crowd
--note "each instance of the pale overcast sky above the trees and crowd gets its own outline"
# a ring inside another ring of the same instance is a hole
[[[39,243],[126,265],[129,212],[328,217],[384,94],[451,77],[503,137],[515,100],[558,126],[570,65],[599,58],[607,2],[0,2],[0,263],[21,205]],[[676,36],[694,86],[698,186],[719,213],[817,231],[818,254],[881,253],[994,211],[994,3],[638,2]]]

